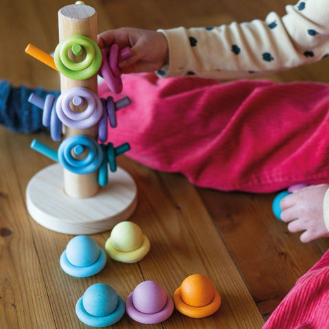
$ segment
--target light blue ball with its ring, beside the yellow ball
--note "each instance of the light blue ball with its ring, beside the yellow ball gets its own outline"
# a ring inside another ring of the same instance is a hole
[[[60,256],[60,267],[70,276],[93,276],[106,265],[106,254],[90,236],[75,236]]]

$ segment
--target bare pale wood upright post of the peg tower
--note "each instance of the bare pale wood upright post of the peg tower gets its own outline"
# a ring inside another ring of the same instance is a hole
[[[70,36],[87,36],[97,40],[97,12],[88,5],[66,5],[58,12],[59,40],[64,40]],[[97,94],[97,75],[86,80],[72,80],[69,77],[60,75],[60,89],[65,90],[73,87],[84,87]],[[94,125],[86,130],[76,130],[64,127],[64,138],[75,135],[86,135],[97,138],[98,125]],[[85,175],[78,175],[66,169],[64,170],[64,190],[71,197],[86,198],[93,197],[98,190],[98,171]]]

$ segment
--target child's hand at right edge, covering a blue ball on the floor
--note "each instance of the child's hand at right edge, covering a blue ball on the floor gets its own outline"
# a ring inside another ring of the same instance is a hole
[[[324,195],[328,184],[310,185],[287,195],[280,202],[281,219],[290,232],[304,231],[300,241],[307,243],[329,236],[324,223]]]

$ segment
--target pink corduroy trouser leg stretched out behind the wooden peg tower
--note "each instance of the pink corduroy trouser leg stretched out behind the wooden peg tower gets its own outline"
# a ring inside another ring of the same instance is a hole
[[[99,95],[112,93],[106,84]],[[132,104],[108,141],[127,156],[222,191],[269,193],[329,182],[329,86],[123,75]]]

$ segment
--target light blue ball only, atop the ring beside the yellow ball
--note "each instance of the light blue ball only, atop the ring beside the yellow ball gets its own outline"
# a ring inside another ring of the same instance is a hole
[[[99,246],[86,235],[75,236],[66,245],[66,258],[76,267],[93,265],[99,257]]]

